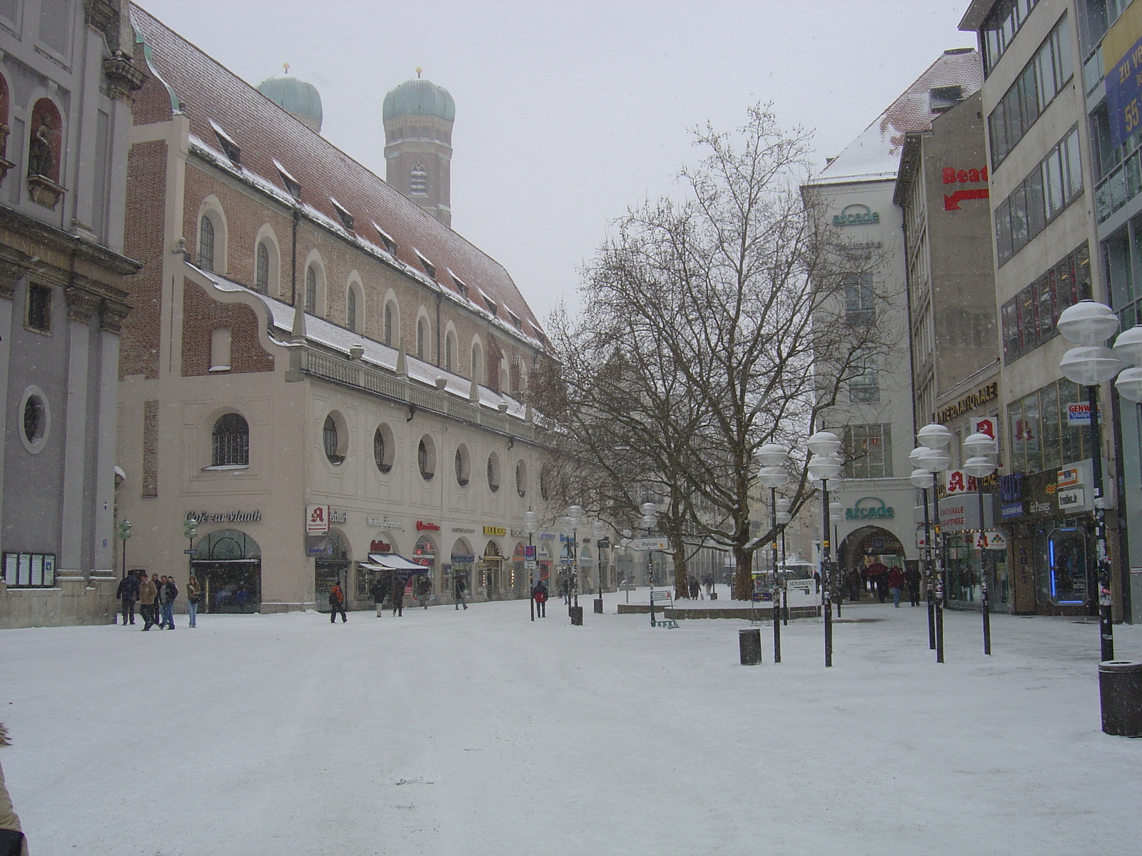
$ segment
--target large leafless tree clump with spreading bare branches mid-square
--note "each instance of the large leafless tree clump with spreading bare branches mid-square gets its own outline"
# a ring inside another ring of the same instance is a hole
[[[541,406],[581,461],[580,495],[625,514],[643,491],[664,500],[679,593],[687,544],[713,542],[747,598],[753,555],[775,534],[750,531],[757,449],[803,447],[887,339],[846,305],[876,259],[798,189],[809,135],[756,106],[737,134],[707,127],[694,144],[683,199],[628,211],[586,270],[584,312],[553,317],[561,365]],[[806,466],[795,452],[794,514],[813,493]]]

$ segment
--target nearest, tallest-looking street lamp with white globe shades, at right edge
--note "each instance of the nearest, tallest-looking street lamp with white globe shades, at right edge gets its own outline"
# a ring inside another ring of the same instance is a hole
[[[1107,550],[1105,500],[1102,485],[1102,437],[1099,430],[1099,385],[1115,381],[1124,398],[1142,402],[1142,328],[1135,325],[1115,340],[1105,341],[1118,330],[1113,309],[1093,300],[1079,300],[1059,315],[1059,332],[1080,347],[1071,348],[1059,363],[1063,377],[1086,387],[1091,407],[1091,469],[1094,484],[1094,538],[1099,589],[1099,638],[1101,659],[1115,659],[1115,625],[1110,612],[1110,559]],[[1127,369],[1126,363],[1134,368]]]

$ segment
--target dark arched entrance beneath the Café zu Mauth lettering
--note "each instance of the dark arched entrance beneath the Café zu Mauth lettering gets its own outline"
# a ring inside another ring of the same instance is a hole
[[[262,548],[239,530],[199,539],[191,568],[202,589],[203,613],[256,613],[262,608]]]

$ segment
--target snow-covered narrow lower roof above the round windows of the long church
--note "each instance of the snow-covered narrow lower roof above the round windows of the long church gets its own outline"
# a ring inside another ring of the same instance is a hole
[[[187,267],[193,268],[193,270],[200,276],[203,276],[212,282],[215,288],[219,291],[246,292],[248,294],[254,294],[262,300],[262,302],[266,305],[266,309],[270,313],[272,324],[271,334],[274,336],[281,345],[290,344],[289,339],[293,329],[295,314],[292,306],[283,300],[278,300],[268,294],[263,294],[260,291],[248,289],[241,283],[227,280],[225,276],[216,274],[212,270],[204,270],[200,267],[195,267],[188,261],[186,265]],[[311,315],[309,313],[305,314],[305,338],[309,342],[321,345],[330,350],[336,350],[339,354],[344,354],[346,357],[354,345],[360,345],[364,348],[364,354],[361,356],[362,363],[373,365],[378,369],[385,369],[391,372],[396,371],[396,360],[399,356],[396,348],[392,348],[379,341],[375,341],[373,339],[362,336],[361,333],[354,333],[352,330],[338,326],[320,315]],[[411,380],[417,380],[425,386],[435,387],[442,391],[451,393],[457,398],[468,401],[468,396],[472,394],[472,381],[468,378],[445,371],[433,365],[432,363],[410,356],[409,354],[404,355],[404,368]],[[444,380],[443,387],[437,383],[437,379]],[[506,404],[507,410],[504,412],[508,415],[513,415],[518,419],[524,419],[526,417],[526,407],[509,395],[496,393],[485,386],[478,386],[478,394],[480,404],[489,410],[498,411],[500,410],[501,404]]]

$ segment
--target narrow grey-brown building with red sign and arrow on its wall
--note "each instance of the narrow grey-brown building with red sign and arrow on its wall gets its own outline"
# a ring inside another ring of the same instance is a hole
[[[933,483],[927,491],[952,607],[980,604],[980,554],[972,538],[981,528],[979,496],[971,490],[973,479],[959,470],[962,443],[976,430],[998,436],[1003,421],[984,137],[980,94],[974,92],[935,116],[931,129],[906,135],[894,196],[904,225],[912,436],[930,422],[952,435],[952,471],[942,487]],[[944,494],[939,514],[933,492]],[[992,517],[989,494],[986,528],[994,527]],[[917,515],[917,524],[922,520]],[[1010,609],[1006,551],[989,551],[984,564],[991,607]]]

